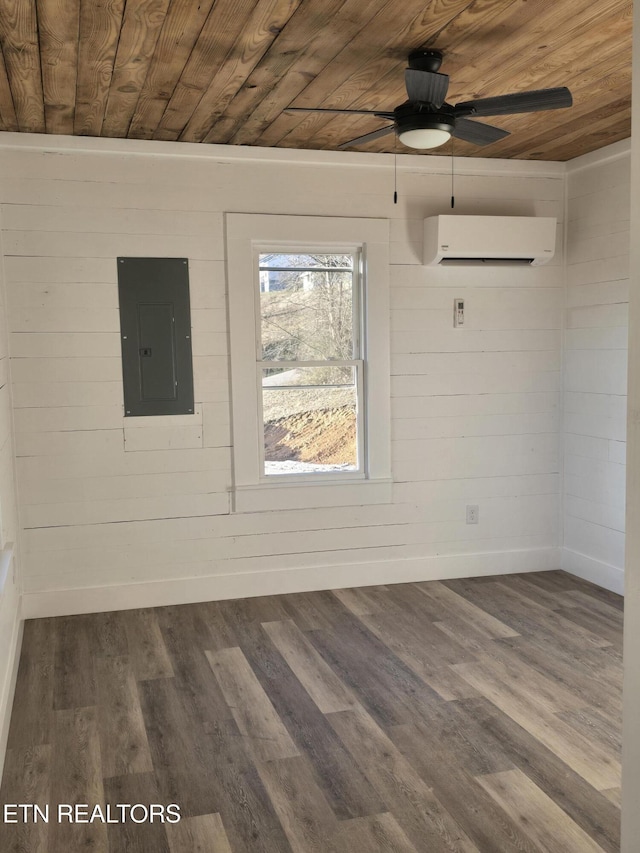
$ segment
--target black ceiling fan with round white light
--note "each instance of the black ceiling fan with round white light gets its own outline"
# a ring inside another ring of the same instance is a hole
[[[508,130],[470,119],[476,116],[535,113],[570,107],[571,92],[561,86],[556,89],[536,89],[498,95],[495,98],[478,98],[452,106],[445,102],[449,77],[440,74],[443,54],[440,50],[414,50],[409,54],[409,67],[404,81],[408,101],[394,110],[340,110],[313,107],[287,107],[286,112],[350,113],[373,115],[393,121],[386,127],[343,142],[338,148],[349,148],[363,142],[379,139],[387,133],[397,133],[403,145],[410,148],[437,148],[454,136],[475,145],[489,145],[509,136]]]

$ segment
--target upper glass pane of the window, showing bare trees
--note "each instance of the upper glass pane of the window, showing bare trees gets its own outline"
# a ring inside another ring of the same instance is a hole
[[[262,268],[265,257],[287,260],[290,266]],[[313,259],[317,261],[316,268],[308,265]],[[354,358],[353,257],[261,255],[260,260],[262,358]]]

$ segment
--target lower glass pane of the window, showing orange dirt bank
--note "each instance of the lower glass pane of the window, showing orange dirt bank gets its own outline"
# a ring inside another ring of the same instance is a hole
[[[355,368],[264,373],[265,474],[357,471]]]

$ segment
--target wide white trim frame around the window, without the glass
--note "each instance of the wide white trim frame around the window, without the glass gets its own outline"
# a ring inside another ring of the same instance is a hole
[[[227,213],[227,284],[231,355],[231,412],[234,501],[237,512],[387,503],[391,500],[390,357],[389,357],[389,222],[319,216],[281,216]],[[255,248],[279,245],[292,251],[310,246],[361,248],[363,290],[363,357],[367,363],[364,387],[366,477],[337,475],[312,483],[262,477],[256,382]]]

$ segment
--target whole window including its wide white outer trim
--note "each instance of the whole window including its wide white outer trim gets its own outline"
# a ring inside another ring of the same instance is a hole
[[[235,509],[388,501],[386,220],[227,214],[227,271]]]

